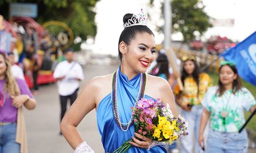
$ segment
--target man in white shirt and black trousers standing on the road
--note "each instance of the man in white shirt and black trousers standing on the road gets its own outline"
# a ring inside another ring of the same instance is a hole
[[[74,61],[74,50],[66,49],[65,58],[66,60],[60,62],[54,70],[54,78],[58,80],[57,84],[60,95],[60,121],[65,115],[68,99],[70,100],[71,106],[77,98],[80,81],[84,80],[82,67]]]

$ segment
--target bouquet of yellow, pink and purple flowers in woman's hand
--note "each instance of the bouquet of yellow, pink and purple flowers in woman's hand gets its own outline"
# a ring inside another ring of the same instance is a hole
[[[169,104],[165,106],[159,98],[156,101],[141,98],[137,106],[132,107],[132,118],[135,132],[162,144],[172,144],[180,135],[187,134],[188,124],[185,119],[180,115],[175,118]],[[132,146],[130,141],[132,139],[124,141],[114,152],[128,151]]]

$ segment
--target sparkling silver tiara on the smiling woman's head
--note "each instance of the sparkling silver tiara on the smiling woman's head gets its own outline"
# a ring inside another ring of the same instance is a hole
[[[146,25],[148,24],[148,18],[144,15],[142,9],[140,14],[132,15],[132,18],[128,19],[128,21],[124,24],[124,29],[127,27],[132,27],[134,25]]]

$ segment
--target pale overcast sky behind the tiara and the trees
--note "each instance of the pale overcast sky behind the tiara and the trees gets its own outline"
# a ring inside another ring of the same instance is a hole
[[[256,1],[255,0],[203,0],[205,12],[217,19],[234,19],[233,27],[215,27],[205,33],[210,35],[228,36],[233,40],[242,41],[256,30]],[[96,5],[96,23],[98,32],[95,47],[99,53],[118,55],[118,39],[123,30],[123,16],[126,13],[140,13],[143,9],[152,19],[148,26],[155,33],[155,42],[160,44],[163,35],[155,32],[155,25],[162,24],[160,20],[160,3],[155,1],[155,9],[150,9],[148,0],[101,0]],[[180,39],[179,35],[172,35],[172,39]]]

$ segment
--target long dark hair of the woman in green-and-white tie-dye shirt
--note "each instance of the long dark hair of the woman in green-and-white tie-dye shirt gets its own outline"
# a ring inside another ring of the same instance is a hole
[[[232,92],[233,92],[233,94],[235,95],[235,93],[236,93],[238,90],[240,90],[241,87],[242,87],[242,82],[241,82],[241,79],[240,79],[240,77],[239,77],[239,75],[238,75],[238,71],[237,71],[237,69],[236,69],[236,66],[230,66],[229,64],[226,64],[226,65],[223,65],[223,66],[229,66],[230,69],[232,69],[232,71],[237,75],[237,78],[236,78],[236,79],[233,81],[233,83],[232,83]],[[219,67],[219,72],[221,71],[221,69],[222,69],[223,66]],[[218,86],[219,86],[219,89],[217,90],[217,93],[216,93],[216,94],[218,94],[218,96],[221,97],[221,96],[224,94],[224,92],[225,92],[226,89],[225,89],[225,87],[224,87],[224,84],[221,83],[221,80],[220,80],[220,79],[219,79],[219,81],[218,81]]]

